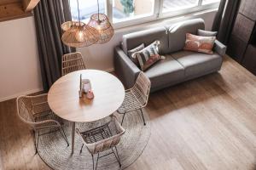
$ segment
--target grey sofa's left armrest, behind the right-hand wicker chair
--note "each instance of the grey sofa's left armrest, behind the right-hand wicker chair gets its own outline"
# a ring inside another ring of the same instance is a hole
[[[119,80],[123,82],[125,88],[131,88],[140,72],[137,65],[135,65],[119,47],[114,48],[113,64]]]

